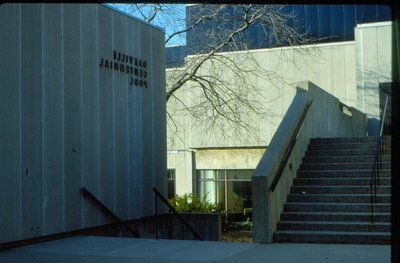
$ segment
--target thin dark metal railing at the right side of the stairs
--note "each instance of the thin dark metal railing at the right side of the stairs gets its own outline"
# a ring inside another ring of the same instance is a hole
[[[379,134],[376,138],[375,154],[372,164],[371,178],[370,178],[370,202],[371,202],[371,223],[374,223],[374,206],[377,203],[377,186],[379,185],[380,171],[382,169],[382,155],[384,154],[384,147],[382,144],[385,142],[384,127],[386,119],[386,111],[388,104],[388,96],[385,98],[385,107],[382,113],[381,125]]]

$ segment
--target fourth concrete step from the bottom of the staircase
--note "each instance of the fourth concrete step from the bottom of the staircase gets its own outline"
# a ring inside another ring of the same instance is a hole
[[[287,202],[284,212],[371,212],[371,205],[365,203],[300,203]],[[389,213],[390,203],[374,204],[374,212]]]

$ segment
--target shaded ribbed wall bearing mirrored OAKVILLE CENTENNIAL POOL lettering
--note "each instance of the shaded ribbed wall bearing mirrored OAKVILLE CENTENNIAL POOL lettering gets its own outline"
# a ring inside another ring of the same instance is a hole
[[[95,4],[0,5],[0,242],[153,214],[166,193],[164,34]],[[113,51],[134,74],[100,66]],[[130,63],[124,63],[128,66]]]

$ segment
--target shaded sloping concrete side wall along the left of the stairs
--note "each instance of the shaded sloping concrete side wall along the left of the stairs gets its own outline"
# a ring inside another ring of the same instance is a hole
[[[310,138],[362,137],[367,134],[365,114],[342,104],[337,98],[311,82],[301,82],[298,91],[274,134],[268,150],[252,176],[253,187],[253,241],[271,243],[273,232],[283,211],[290,187]],[[270,190],[271,183],[284,158],[307,104],[311,102],[308,114],[296,138],[282,177],[276,189]]]

